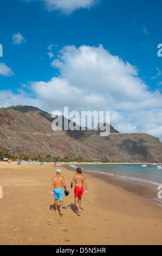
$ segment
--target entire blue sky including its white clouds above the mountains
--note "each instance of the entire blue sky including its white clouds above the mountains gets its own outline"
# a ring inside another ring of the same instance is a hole
[[[0,107],[111,111],[162,139],[162,2],[1,0]]]

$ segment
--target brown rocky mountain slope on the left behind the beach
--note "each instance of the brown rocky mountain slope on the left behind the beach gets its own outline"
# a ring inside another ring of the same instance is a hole
[[[0,150],[4,153],[24,153],[70,158],[92,156],[97,150],[70,137],[66,131],[51,129],[51,115],[38,108],[11,106],[0,109]]]

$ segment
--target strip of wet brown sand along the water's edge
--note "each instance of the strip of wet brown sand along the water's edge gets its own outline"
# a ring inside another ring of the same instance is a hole
[[[76,163],[75,163],[76,164]],[[73,166],[75,166],[73,164]],[[75,167],[65,165],[68,169],[75,169]],[[76,164],[76,166],[79,166],[79,164]],[[140,180],[134,180],[129,178],[121,178],[118,175],[110,175],[110,174],[104,174],[99,173],[95,170],[86,170],[83,169],[84,173],[87,173],[95,178],[101,179],[106,181],[108,184],[112,184],[114,186],[122,188],[122,190],[132,193],[135,196],[139,196],[143,199],[145,199],[147,202],[150,202],[152,204],[158,205],[160,208],[162,208],[162,199],[158,199],[158,186],[157,184],[153,184],[152,182],[144,182]]]

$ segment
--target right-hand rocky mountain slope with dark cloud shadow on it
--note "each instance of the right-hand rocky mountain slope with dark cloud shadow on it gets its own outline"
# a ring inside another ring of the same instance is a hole
[[[102,151],[109,161],[161,162],[162,144],[158,138],[144,133],[116,133],[107,137],[89,137],[84,145]]]

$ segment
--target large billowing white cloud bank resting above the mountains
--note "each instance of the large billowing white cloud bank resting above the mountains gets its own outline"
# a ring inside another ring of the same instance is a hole
[[[66,46],[51,65],[59,76],[31,82],[36,99],[28,96],[27,105],[30,102],[49,113],[63,113],[66,106],[69,111],[111,111],[111,124],[120,132],[144,132],[162,141],[162,94],[149,90],[135,66],[102,45]]]

